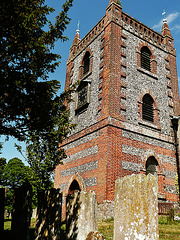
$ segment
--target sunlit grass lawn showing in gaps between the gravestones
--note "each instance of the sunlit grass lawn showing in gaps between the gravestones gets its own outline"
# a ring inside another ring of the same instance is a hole
[[[180,240],[180,222],[174,222],[172,224],[168,224],[164,221],[164,223],[159,224],[159,239],[160,240]],[[106,240],[113,240],[113,219],[109,219],[104,222],[98,222],[98,231],[101,232]],[[64,227],[64,225],[63,225]],[[5,240],[13,239],[11,238],[10,234],[10,228],[11,228],[11,221],[7,220],[4,224],[5,229]],[[32,237],[31,240],[34,240],[33,238],[33,231],[35,228],[35,219],[32,220],[31,223],[31,231],[32,231]],[[62,238],[63,240],[63,238]]]

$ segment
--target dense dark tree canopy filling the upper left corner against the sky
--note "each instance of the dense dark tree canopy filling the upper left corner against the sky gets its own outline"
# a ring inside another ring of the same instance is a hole
[[[60,82],[48,81],[48,74],[59,66],[60,55],[52,50],[57,40],[67,40],[72,3],[65,1],[53,24],[47,17],[54,9],[45,0],[1,0],[1,135],[24,140],[31,131],[45,137],[53,128],[64,97],[57,97]]]

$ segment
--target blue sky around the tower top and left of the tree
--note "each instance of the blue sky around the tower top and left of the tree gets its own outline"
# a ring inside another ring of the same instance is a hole
[[[46,0],[47,5],[56,9],[56,12],[50,16],[53,21],[65,0]],[[68,25],[65,35],[69,41],[64,43],[58,42],[55,51],[61,55],[60,67],[50,78],[57,79],[61,82],[61,90],[64,90],[66,76],[66,62],[69,55],[69,48],[76,34],[77,23],[80,21],[80,37],[83,38],[93,26],[105,15],[106,7],[109,0],[74,0],[73,7],[69,11],[71,23]],[[171,34],[174,38],[174,45],[177,52],[177,69],[180,82],[180,1],[179,0],[121,0],[122,10],[144,23],[148,27],[153,28],[157,32],[161,32],[162,13],[166,11],[166,18]],[[0,138],[4,142],[4,138]],[[21,155],[14,148],[14,140],[11,138],[4,143],[3,151],[0,157],[7,160]],[[23,143],[22,143],[23,145]],[[22,159],[23,160],[23,159]]]

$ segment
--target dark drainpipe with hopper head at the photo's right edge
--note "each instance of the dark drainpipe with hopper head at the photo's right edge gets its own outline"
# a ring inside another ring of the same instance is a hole
[[[177,163],[177,174],[178,174],[178,185],[179,185],[179,201],[180,201],[180,164],[179,164],[179,142],[178,142],[178,122],[179,122],[180,117],[173,117],[171,119],[172,121],[172,126],[174,130],[174,144],[175,144],[175,149],[176,149],[176,163]]]

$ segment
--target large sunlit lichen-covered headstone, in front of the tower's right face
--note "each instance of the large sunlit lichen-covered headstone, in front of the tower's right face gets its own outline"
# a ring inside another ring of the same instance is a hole
[[[113,240],[157,240],[158,179],[130,175],[116,180]]]

